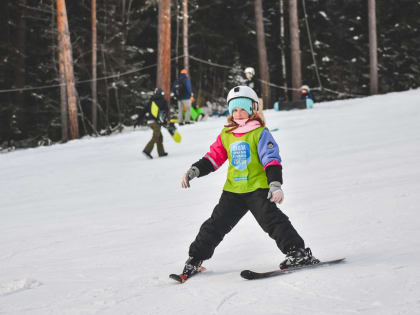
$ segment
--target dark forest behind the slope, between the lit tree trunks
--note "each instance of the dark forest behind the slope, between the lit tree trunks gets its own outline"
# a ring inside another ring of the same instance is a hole
[[[292,80],[288,3],[262,1],[268,108],[280,97],[291,97],[284,89]],[[66,3],[80,136],[92,134],[91,4]],[[302,82],[314,88],[316,101],[369,95],[367,1],[297,0],[297,5]],[[173,82],[184,67],[182,1],[172,0],[170,10]],[[156,87],[158,11],[158,1],[97,0],[98,135],[133,125],[136,106]],[[63,139],[56,12],[54,0],[0,2],[3,147],[11,141],[27,147]],[[377,0],[376,22],[378,92],[419,87],[420,1]],[[189,0],[188,25],[190,77],[200,106],[225,97],[243,80],[245,67],[254,67],[259,76],[254,0]]]

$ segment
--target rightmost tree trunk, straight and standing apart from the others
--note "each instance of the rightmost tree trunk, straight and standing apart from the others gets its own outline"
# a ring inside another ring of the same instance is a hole
[[[376,3],[369,0],[370,94],[378,94],[378,45],[376,41]]]

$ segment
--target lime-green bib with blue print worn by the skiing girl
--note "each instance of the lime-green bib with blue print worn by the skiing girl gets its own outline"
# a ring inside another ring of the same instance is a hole
[[[223,190],[234,193],[247,193],[258,188],[268,188],[264,166],[258,156],[258,142],[264,127],[254,129],[242,137],[235,137],[224,128],[221,133],[229,168]]]

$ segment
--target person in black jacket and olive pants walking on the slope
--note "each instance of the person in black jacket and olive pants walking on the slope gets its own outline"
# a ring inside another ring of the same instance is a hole
[[[156,88],[149,102],[146,112],[147,125],[153,130],[152,139],[143,149],[143,154],[152,159],[151,152],[156,144],[158,155],[166,156],[168,153],[163,148],[163,135],[161,126],[167,123],[169,107],[161,88]]]

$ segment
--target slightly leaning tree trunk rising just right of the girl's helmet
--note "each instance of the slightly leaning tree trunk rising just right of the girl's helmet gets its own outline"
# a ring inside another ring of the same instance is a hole
[[[267,49],[265,46],[265,33],[264,33],[264,22],[263,22],[263,8],[262,0],[255,0],[255,21],[257,25],[257,44],[258,44],[258,61],[259,61],[259,73],[262,87],[262,96],[264,104],[271,107],[270,98],[270,72],[268,71],[267,61]]]

